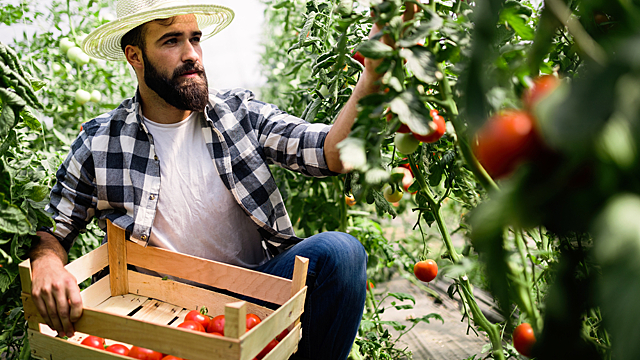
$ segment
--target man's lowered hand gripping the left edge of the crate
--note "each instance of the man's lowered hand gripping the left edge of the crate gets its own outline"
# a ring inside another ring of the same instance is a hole
[[[50,328],[59,336],[73,336],[73,323],[82,315],[82,297],[76,278],[65,268],[67,253],[58,240],[38,232],[40,242],[31,251],[31,295]]]

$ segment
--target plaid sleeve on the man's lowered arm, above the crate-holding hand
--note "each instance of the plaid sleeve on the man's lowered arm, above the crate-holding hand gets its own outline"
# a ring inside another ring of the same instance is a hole
[[[55,229],[49,229],[67,252],[95,215],[97,204],[95,171],[89,137],[82,131],[69,155],[56,172],[56,184],[46,210],[53,214]]]

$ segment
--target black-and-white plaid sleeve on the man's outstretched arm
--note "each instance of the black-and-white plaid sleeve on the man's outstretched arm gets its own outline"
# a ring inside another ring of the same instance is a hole
[[[258,141],[269,163],[308,176],[338,175],[329,170],[324,155],[331,125],[311,124],[256,100],[249,102],[249,111],[257,118]]]

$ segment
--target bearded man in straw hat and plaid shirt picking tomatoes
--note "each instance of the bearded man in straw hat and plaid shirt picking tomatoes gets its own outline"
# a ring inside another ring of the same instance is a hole
[[[121,0],[117,12],[84,49],[126,60],[138,90],[84,125],[56,174],[49,206],[56,228],[39,232],[31,252],[39,312],[60,335],[73,335],[82,300],[63,266],[95,216],[141,245],[277,276],[292,276],[296,255],[309,258],[297,356],[345,359],[364,306],[366,253],[343,233],[295,237],[267,165],[310,176],[341,172],[336,145],[350,132],[358,100],[377,91],[375,67],[367,64],[333,126],[308,124],[248,91],[208,91],[200,41],[230,22],[229,9]]]

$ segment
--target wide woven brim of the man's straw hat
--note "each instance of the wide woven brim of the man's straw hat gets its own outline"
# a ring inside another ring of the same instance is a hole
[[[131,29],[158,19],[194,14],[206,40],[227,27],[235,13],[226,6],[210,4],[186,4],[150,9],[108,22],[92,31],[82,42],[84,52],[96,59],[125,61],[120,41]]]

